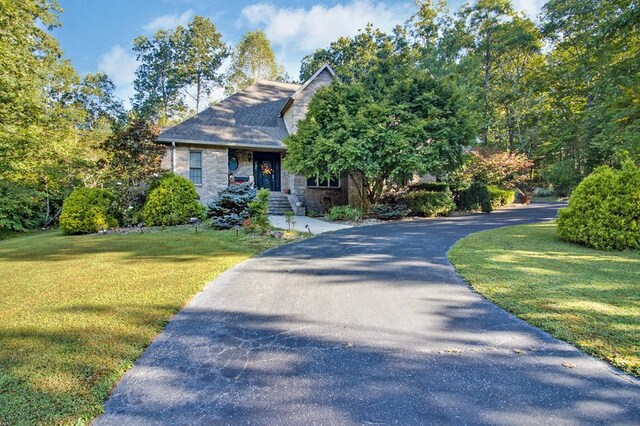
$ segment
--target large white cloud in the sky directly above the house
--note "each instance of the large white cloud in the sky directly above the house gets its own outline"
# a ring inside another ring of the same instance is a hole
[[[381,1],[353,0],[332,7],[315,5],[309,9],[256,3],[242,9],[240,23],[263,28],[276,48],[278,59],[295,78],[302,56],[327,47],[339,37],[357,34],[368,23],[389,32],[404,23],[414,11],[413,2],[391,5]]]

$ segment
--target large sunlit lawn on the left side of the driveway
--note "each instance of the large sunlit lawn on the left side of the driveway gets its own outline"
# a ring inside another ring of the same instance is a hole
[[[278,243],[193,229],[0,241],[0,425],[89,422],[172,314]]]

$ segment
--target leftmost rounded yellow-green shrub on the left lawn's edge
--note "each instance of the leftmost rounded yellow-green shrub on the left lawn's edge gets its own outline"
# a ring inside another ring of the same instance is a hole
[[[91,234],[118,226],[111,212],[113,195],[100,188],[76,189],[64,200],[60,229],[65,234]]]

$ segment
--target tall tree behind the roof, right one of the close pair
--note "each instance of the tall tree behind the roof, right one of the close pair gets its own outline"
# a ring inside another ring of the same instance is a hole
[[[194,17],[186,29],[178,27],[175,37],[179,79],[186,86],[195,86],[192,98],[198,112],[203,95],[209,96],[215,86],[222,85],[223,75],[218,71],[229,52],[215,24],[202,16]]]

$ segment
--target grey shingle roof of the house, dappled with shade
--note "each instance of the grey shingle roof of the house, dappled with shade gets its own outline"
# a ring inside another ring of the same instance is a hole
[[[159,142],[284,149],[288,136],[279,113],[298,84],[259,81],[158,136]]]

